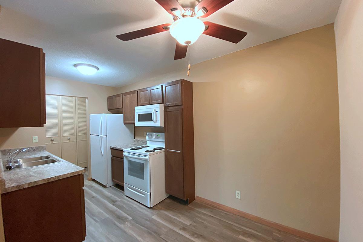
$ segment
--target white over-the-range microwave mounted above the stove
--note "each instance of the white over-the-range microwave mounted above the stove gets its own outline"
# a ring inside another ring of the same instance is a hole
[[[160,126],[160,108],[136,108],[138,107],[135,107],[135,126],[164,127],[163,123]]]

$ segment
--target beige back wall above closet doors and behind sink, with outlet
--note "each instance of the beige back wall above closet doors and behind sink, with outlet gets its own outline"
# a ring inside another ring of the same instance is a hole
[[[109,113],[107,97],[116,94],[118,89],[76,82],[66,79],[46,77],[46,94],[88,98],[88,112]],[[32,136],[38,136],[38,143],[32,143]],[[0,128],[0,149],[45,145],[45,128]]]

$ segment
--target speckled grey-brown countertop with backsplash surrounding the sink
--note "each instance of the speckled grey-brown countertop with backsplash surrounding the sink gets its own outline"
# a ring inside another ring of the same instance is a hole
[[[0,169],[1,193],[12,192],[30,186],[36,186],[46,182],[79,175],[85,172],[85,169],[79,167],[78,165],[74,165],[45,151],[45,146],[31,147],[29,150],[19,153],[19,155],[16,156],[16,159],[48,155],[52,158],[60,160],[61,162],[41,165],[38,167],[4,171],[4,164],[6,162],[5,155],[15,150],[16,149],[1,150],[0,157],[3,158],[3,160],[0,159],[0,164],[3,164]]]

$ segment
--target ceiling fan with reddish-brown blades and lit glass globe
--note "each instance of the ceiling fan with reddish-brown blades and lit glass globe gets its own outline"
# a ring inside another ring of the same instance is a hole
[[[170,34],[176,42],[174,60],[185,58],[189,45],[193,44],[201,34],[226,40],[237,44],[245,36],[246,32],[232,29],[227,26],[215,24],[209,21],[201,21],[231,3],[233,0],[155,0],[168,13],[173,15],[172,24],[160,24],[146,29],[140,29],[125,34],[117,35],[123,41],[156,34],[170,30]],[[190,69],[188,58],[188,69]],[[189,74],[189,71],[188,71]]]

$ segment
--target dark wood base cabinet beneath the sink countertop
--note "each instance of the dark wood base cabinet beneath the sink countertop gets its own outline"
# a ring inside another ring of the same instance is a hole
[[[83,175],[1,194],[6,242],[81,242],[86,237]]]

